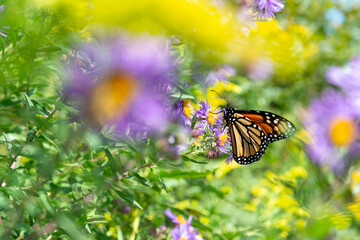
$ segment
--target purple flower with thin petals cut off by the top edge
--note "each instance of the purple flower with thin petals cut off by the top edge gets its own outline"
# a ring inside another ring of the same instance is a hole
[[[260,19],[275,18],[275,13],[284,9],[280,0],[255,0],[257,17]]]

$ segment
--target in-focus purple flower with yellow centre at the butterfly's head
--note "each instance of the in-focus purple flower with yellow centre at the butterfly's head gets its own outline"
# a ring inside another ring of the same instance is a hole
[[[201,107],[196,111],[196,118],[199,120],[196,127],[203,132],[206,132],[206,129],[209,128],[210,132],[212,132],[219,115],[211,112],[212,105],[209,105],[208,100],[206,100],[206,103],[204,101],[200,102],[200,105]]]

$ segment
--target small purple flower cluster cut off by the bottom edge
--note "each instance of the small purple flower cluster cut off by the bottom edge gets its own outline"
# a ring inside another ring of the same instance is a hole
[[[200,233],[191,226],[192,216],[186,220],[182,215],[176,216],[173,214],[170,209],[165,210],[165,215],[175,224],[175,227],[170,232],[172,235],[171,240],[202,240]]]

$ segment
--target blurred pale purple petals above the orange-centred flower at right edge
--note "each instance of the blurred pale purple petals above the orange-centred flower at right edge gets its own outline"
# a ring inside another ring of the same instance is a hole
[[[354,111],[360,112],[360,54],[352,58],[345,67],[331,67],[326,78],[340,87],[354,102]]]

